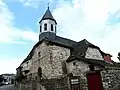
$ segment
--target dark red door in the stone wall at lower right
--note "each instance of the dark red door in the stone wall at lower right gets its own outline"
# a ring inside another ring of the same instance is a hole
[[[87,74],[89,90],[103,90],[100,72]]]

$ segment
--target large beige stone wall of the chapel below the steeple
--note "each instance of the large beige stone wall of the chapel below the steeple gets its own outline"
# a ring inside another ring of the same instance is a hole
[[[38,55],[40,54],[40,55]],[[70,56],[70,50],[48,42],[43,42],[34,51],[31,73],[36,77],[38,68],[42,68],[42,78],[57,78],[63,75],[62,62]]]

